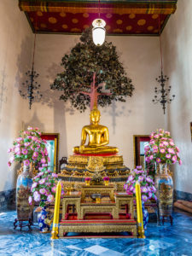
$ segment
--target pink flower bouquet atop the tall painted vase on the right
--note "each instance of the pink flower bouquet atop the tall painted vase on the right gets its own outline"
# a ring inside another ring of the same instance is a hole
[[[179,149],[173,142],[170,132],[159,129],[150,135],[149,146],[145,148],[145,160],[147,163],[175,164],[178,162],[181,165],[182,160],[180,160],[178,153]]]

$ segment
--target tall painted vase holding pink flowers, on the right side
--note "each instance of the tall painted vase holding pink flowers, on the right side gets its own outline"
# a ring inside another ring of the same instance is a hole
[[[155,178],[157,189],[157,203],[160,216],[172,216],[173,204],[173,182],[172,177],[167,172],[167,164],[159,164],[159,174]]]

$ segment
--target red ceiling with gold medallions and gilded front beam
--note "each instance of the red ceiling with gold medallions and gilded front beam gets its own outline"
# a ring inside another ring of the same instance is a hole
[[[36,33],[80,34],[100,13],[108,35],[159,36],[177,0],[19,0],[19,7]]]

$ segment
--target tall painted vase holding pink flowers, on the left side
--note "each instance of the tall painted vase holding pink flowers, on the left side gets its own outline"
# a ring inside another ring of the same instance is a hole
[[[17,177],[16,184],[16,209],[19,221],[32,220],[33,206],[28,202],[31,187],[32,174],[29,172],[29,166],[23,166],[23,172]]]

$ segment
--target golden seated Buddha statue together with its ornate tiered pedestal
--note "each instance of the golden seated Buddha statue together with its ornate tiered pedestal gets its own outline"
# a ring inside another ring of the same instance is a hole
[[[108,127],[99,125],[101,113],[96,106],[90,112],[90,125],[85,125],[81,133],[80,146],[73,148],[73,155],[68,164],[61,170],[59,177],[64,187],[80,190],[85,177],[93,177],[99,172],[101,177],[108,176],[116,189],[123,191],[124,183],[130,169],[124,166],[123,156],[119,149],[107,146],[109,143]],[[88,144],[85,145],[88,138]]]

